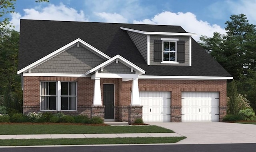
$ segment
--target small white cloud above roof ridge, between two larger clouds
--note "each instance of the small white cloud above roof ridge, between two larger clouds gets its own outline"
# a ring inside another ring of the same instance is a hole
[[[96,16],[99,16],[100,18],[103,18],[105,20],[105,22],[109,22],[109,23],[128,23],[128,20],[120,14],[106,13],[106,12],[97,12],[95,14],[96,14]]]

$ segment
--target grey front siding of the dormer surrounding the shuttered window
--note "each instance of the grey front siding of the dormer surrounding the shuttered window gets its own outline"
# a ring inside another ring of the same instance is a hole
[[[161,40],[161,38],[178,38],[179,41],[185,41],[185,62],[179,64],[161,64],[154,61],[154,40]],[[189,37],[188,36],[156,36],[150,35],[150,65],[161,66],[189,66]]]

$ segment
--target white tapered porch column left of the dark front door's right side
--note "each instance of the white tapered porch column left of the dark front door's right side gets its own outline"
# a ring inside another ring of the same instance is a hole
[[[95,80],[94,80],[93,106],[102,106],[101,91],[100,91],[100,78],[95,78]]]

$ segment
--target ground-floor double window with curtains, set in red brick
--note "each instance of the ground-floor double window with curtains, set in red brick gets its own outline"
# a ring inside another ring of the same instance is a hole
[[[76,82],[41,82],[41,110],[76,110]]]

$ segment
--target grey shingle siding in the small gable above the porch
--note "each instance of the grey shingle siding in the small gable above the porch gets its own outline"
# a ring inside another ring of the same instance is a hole
[[[116,64],[116,62],[113,62],[109,64],[108,66],[103,68],[103,71],[99,73],[123,73],[123,74],[135,74],[135,71],[131,72],[131,68],[127,67],[126,65],[122,63]]]

